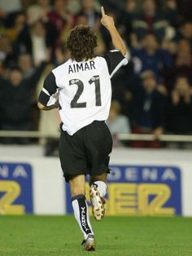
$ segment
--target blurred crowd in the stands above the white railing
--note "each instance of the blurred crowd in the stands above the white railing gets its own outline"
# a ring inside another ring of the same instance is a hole
[[[192,134],[190,0],[0,0],[0,130],[58,130],[57,112],[38,111],[38,93],[46,74],[68,60],[65,42],[76,24],[94,29],[95,55],[112,48],[100,23],[101,4],[131,55],[112,79],[111,133]]]

